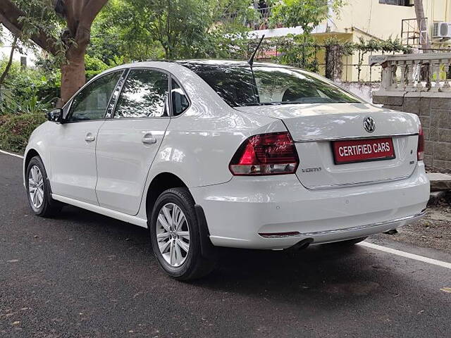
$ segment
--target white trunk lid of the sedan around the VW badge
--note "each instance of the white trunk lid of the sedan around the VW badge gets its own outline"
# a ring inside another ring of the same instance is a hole
[[[283,120],[299,155],[297,177],[309,189],[400,180],[412,175],[415,168],[419,122],[413,114],[371,104],[290,104],[237,109]],[[365,130],[365,118],[373,120],[373,132]],[[385,154],[389,159],[354,158],[354,163],[339,164],[333,142],[344,146],[347,142],[349,146],[376,144],[379,148],[381,143],[393,142],[394,154]]]

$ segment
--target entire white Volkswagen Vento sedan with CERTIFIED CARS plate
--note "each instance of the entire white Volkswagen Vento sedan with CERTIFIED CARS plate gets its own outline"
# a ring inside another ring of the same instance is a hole
[[[121,65],[48,115],[23,162],[32,210],[72,204],[147,227],[181,280],[209,273],[215,246],[353,244],[428,201],[419,118],[297,68]]]

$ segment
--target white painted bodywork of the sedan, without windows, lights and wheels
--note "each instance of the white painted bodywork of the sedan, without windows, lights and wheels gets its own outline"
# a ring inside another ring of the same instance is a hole
[[[416,115],[367,103],[232,108],[173,62],[121,65],[107,73],[130,68],[171,74],[189,108],[177,117],[115,120],[107,112],[99,120],[39,126],[25,151],[24,172],[39,154],[53,199],[147,227],[148,200],[156,198],[152,182],[169,173],[202,206],[212,244],[249,249],[354,239],[424,215],[429,182],[416,156]],[[373,134],[363,128],[367,116],[376,123]],[[248,137],[287,130],[299,155],[295,174],[231,173],[230,159]],[[396,158],[335,165],[330,142],[384,136],[393,137]]]

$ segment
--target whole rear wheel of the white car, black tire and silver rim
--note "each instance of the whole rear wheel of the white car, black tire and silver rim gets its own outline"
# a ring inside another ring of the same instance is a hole
[[[202,256],[199,222],[188,189],[168,189],[156,199],[149,232],[154,255],[169,276],[195,280],[214,269],[214,260]]]

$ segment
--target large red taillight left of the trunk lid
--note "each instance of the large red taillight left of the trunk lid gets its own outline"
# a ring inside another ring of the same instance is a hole
[[[233,175],[281,175],[296,172],[299,158],[289,132],[271,132],[246,139],[230,161]]]

